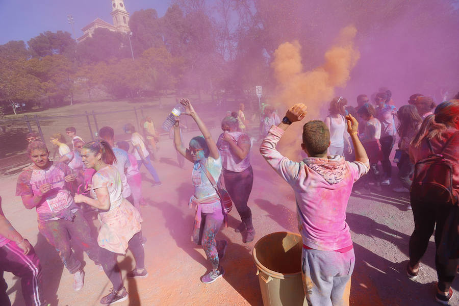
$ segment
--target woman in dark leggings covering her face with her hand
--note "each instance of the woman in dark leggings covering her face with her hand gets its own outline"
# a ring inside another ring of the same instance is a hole
[[[244,242],[253,241],[255,230],[252,225],[252,212],[247,201],[252,191],[253,171],[250,165],[250,138],[238,131],[239,120],[227,116],[221,121],[217,147],[220,151],[223,166],[225,188],[241,216],[241,224],[236,227],[236,233],[245,231]]]

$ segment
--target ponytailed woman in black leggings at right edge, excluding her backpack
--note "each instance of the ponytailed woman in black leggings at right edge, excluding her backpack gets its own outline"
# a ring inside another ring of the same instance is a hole
[[[459,100],[444,101],[437,106],[432,115],[424,119],[419,132],[410,144],[410,158],[414,164],[431,154],[440,153],[443,159],[451,163],[452,187],[456,196],[459,192],[458,130]],[[447,142],[448,144],[445,146]],[[411,206],[415,229],[410,238],[410,262],[407,266],[407,273],[410,278],[415,278],[419,273],[420,261],[427,249],[434,227],[437,250],[440,247],[443,227],[451,212],[451,204],[439,201],[431,202],[411,194]],[[438,275],[436,298],[439,302],[447,304],[452,296],[450,286],[456,274],[457,260],[449,260],[445,263],[439,260],[439,254],[436,252],[435,266]]]

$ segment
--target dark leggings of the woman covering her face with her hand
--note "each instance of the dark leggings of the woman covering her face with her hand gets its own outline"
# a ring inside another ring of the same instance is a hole
[[[223,179],[226,191],[230,194],[242,222],[245,223],[248,229],[253,228],[252,211],[247,206],[253,185],[252,166],[242,172],[223,170]]]

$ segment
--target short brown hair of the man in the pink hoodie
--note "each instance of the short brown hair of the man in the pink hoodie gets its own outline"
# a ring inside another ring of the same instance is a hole
[[[330,144],[330,131],[323,121],[312,120],[303,125],[303,144],[311,157],[322,155]]]

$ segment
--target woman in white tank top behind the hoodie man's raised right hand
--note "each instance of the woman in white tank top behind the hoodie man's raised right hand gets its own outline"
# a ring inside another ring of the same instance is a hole
[[[328,147],[329,156],[344,156],[344,142],[349,150],[351,149],[349,138],[346,131],[345,105],[347,100],[343,97],[336,97],[330,102],[328,111],[330,114],[323,120],[330,131],[330,146]],[[350,151],[349,151],[350,153]]]

